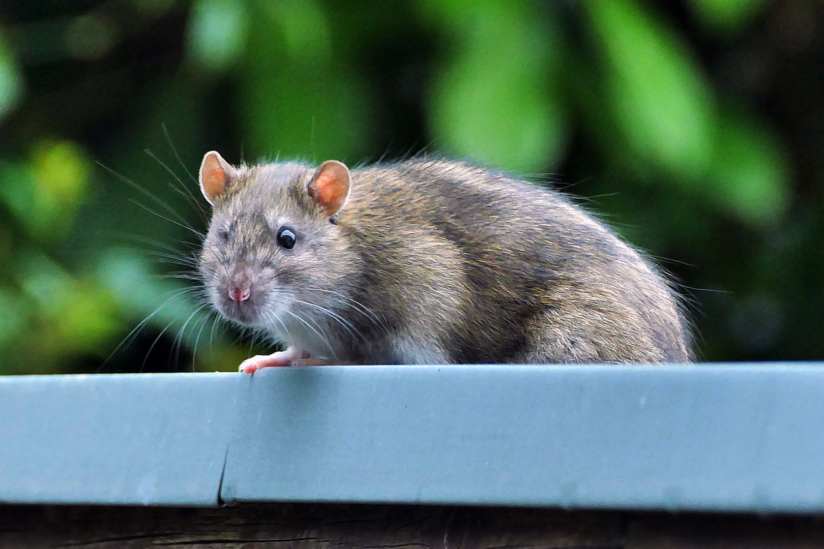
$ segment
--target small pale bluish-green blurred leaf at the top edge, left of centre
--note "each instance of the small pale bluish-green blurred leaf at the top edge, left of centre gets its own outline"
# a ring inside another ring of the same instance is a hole
[[[199,0],[189,20],[189,52],[209,71],[230,67],[246,48],[248,26],[244,0]]]

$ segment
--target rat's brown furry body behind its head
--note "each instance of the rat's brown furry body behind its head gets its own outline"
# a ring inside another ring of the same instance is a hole
[[[360,361],[691,360],[667,282],[559,193],[414,159],[353,170],[339,226],[361,258],[351,291],[382,318]]]

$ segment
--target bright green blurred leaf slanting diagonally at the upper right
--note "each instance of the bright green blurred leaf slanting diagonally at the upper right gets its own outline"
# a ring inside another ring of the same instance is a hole
[[[630,151],[677,176],[704,175],[712,156],[714,100],[690,49],[639,2],[583,5],[603,44],[606,99]]]

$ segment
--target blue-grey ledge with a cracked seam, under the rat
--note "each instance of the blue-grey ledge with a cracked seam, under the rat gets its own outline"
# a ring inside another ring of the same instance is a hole
[[[824,365],[0,378],[0,502],[824,511]]]

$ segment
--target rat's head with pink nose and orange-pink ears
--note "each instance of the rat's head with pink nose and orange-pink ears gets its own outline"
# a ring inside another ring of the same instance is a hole
[[[213,206],[200,274],[227,319],[288,332],[344,294],[353,271],[336,221],[349,197],[344,164],[236,168],[211,151],[200,166],[200,188]]]

